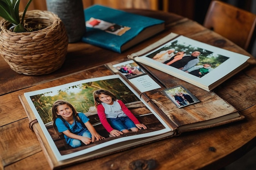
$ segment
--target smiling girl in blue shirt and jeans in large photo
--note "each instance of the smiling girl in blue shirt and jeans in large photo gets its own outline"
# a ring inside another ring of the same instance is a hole
[[[52,121],[55,134],[58,135],[62,132],[67,144],[73,148],[105,139],[96,132],[87,116],[83,113],[77,113],[76,109],[66,101],[54,102]]]

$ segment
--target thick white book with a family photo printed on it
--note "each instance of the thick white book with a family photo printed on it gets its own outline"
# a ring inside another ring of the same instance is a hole
[[[128,55],[174,77],[211,91],[249,64],[248,56],[171,33]]]

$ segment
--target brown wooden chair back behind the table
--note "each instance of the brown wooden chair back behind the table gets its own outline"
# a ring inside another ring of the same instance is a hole
[[[213,0],[203,25],[248,51],[254,36],[256,15],[230,4]]]

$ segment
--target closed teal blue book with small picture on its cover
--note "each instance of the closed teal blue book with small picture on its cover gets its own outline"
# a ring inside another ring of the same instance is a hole
[[[84,10],[86,33],[82,41],[117,53],[164,30],[164,21],[93,5]]]

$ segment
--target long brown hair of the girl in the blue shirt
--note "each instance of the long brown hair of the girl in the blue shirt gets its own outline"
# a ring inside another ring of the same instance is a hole
[[[63,119],[61,117],[61,115],[58,115],[58,106],[61,106],[63,104],[67,104],[68,106],[70,106],[70,108],[72,109],[72,115],[73,115],[73,119],[75,121],[79,121],[82,126],[85,126],[84,123],[81,121],[81,119],[78,117],[78,114],[76,112],[76,109],[74,108],[74,106],[72,104],[70,104],[69,102],[66,102],[64,100],[57,100],[56,102],[54,102],[54,104],[52,105],[52,121],[53,121],[53,130],[54,130],[54,135],[58,135],[59,136],[59,132],[58,132],[58,128],[56,126],[56,119],[60,118],[63,122],[65,122],[65,119]],[[64,123],[65,124],[65,123]]]

